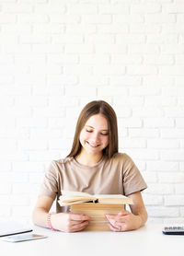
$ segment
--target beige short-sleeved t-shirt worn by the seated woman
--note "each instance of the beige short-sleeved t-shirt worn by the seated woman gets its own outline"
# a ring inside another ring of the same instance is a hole
[[[52,161],[45,173],[40,195],[47,195],[58,201],[62,190],[129,195],[146,188],[146,183],[132,158],[117,153],[111,158],[102,157],[93,167],[79,164],[75,157]],[[57,212],[67,211],[57,202],[56,209]]]

